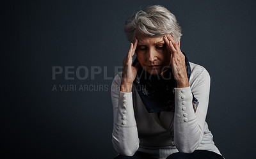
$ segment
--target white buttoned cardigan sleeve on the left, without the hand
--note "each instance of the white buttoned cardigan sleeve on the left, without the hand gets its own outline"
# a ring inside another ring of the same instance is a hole
[[[139,137],[132,104],[132,93],[120,91],[122,74],[118,73],[111,84],[113,105],[112,142],[116,152],[132,156],[139,148]]]

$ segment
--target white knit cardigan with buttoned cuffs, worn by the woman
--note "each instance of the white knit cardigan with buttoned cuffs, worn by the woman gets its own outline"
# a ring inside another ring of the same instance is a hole
[[[113,147],[119,154],[132,156],[136,151],[154,158],[166,158],[175,152],[192,153],[205,149],[221,155],[205,122],[210,76],[204,67],[189,62],[189,87],[175,88],[175,112],[148,113],[135,87],[131,93],[120,91],[122,72],[113,79]],[[196,112],[192,93],[198,99]]]

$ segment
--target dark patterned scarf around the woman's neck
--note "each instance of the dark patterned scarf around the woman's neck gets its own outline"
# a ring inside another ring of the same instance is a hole
[[[184,54],[184,52],[182,53]],[[189,80],[191,68],[188,58],[185,54],[184,56]],[[136,63],[138,63],[137,58],[132,66],[135,66]],[[133,84],[148,112],[174,112],[174,87],[177,87],[177,82],[173,77],[172,66],[168,67],[168,70],[163,75],[150,75],[140,67]],[[196,111],[198,104],[198,100],[193,95],[192,105],[194,111]]]

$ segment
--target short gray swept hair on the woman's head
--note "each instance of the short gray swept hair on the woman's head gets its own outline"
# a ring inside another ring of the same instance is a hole
[[[182,36],[181,27],[175,15],[164,6],[159,5],[148,6],[144,10],[134,13],[125,21],[124,31],[129,42],[134,42],[134,37],[138,32],[148,37],[172,34],[177,43]]]

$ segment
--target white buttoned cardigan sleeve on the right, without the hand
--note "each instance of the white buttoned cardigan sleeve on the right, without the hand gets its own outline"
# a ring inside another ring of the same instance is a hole
[[[202,142],[210,82],[210,75],[203,68],[191,86],[175,88],[174,142],[180,152],[193,153]],[[192,106],[191,92],[199,102],[196,112]]]

